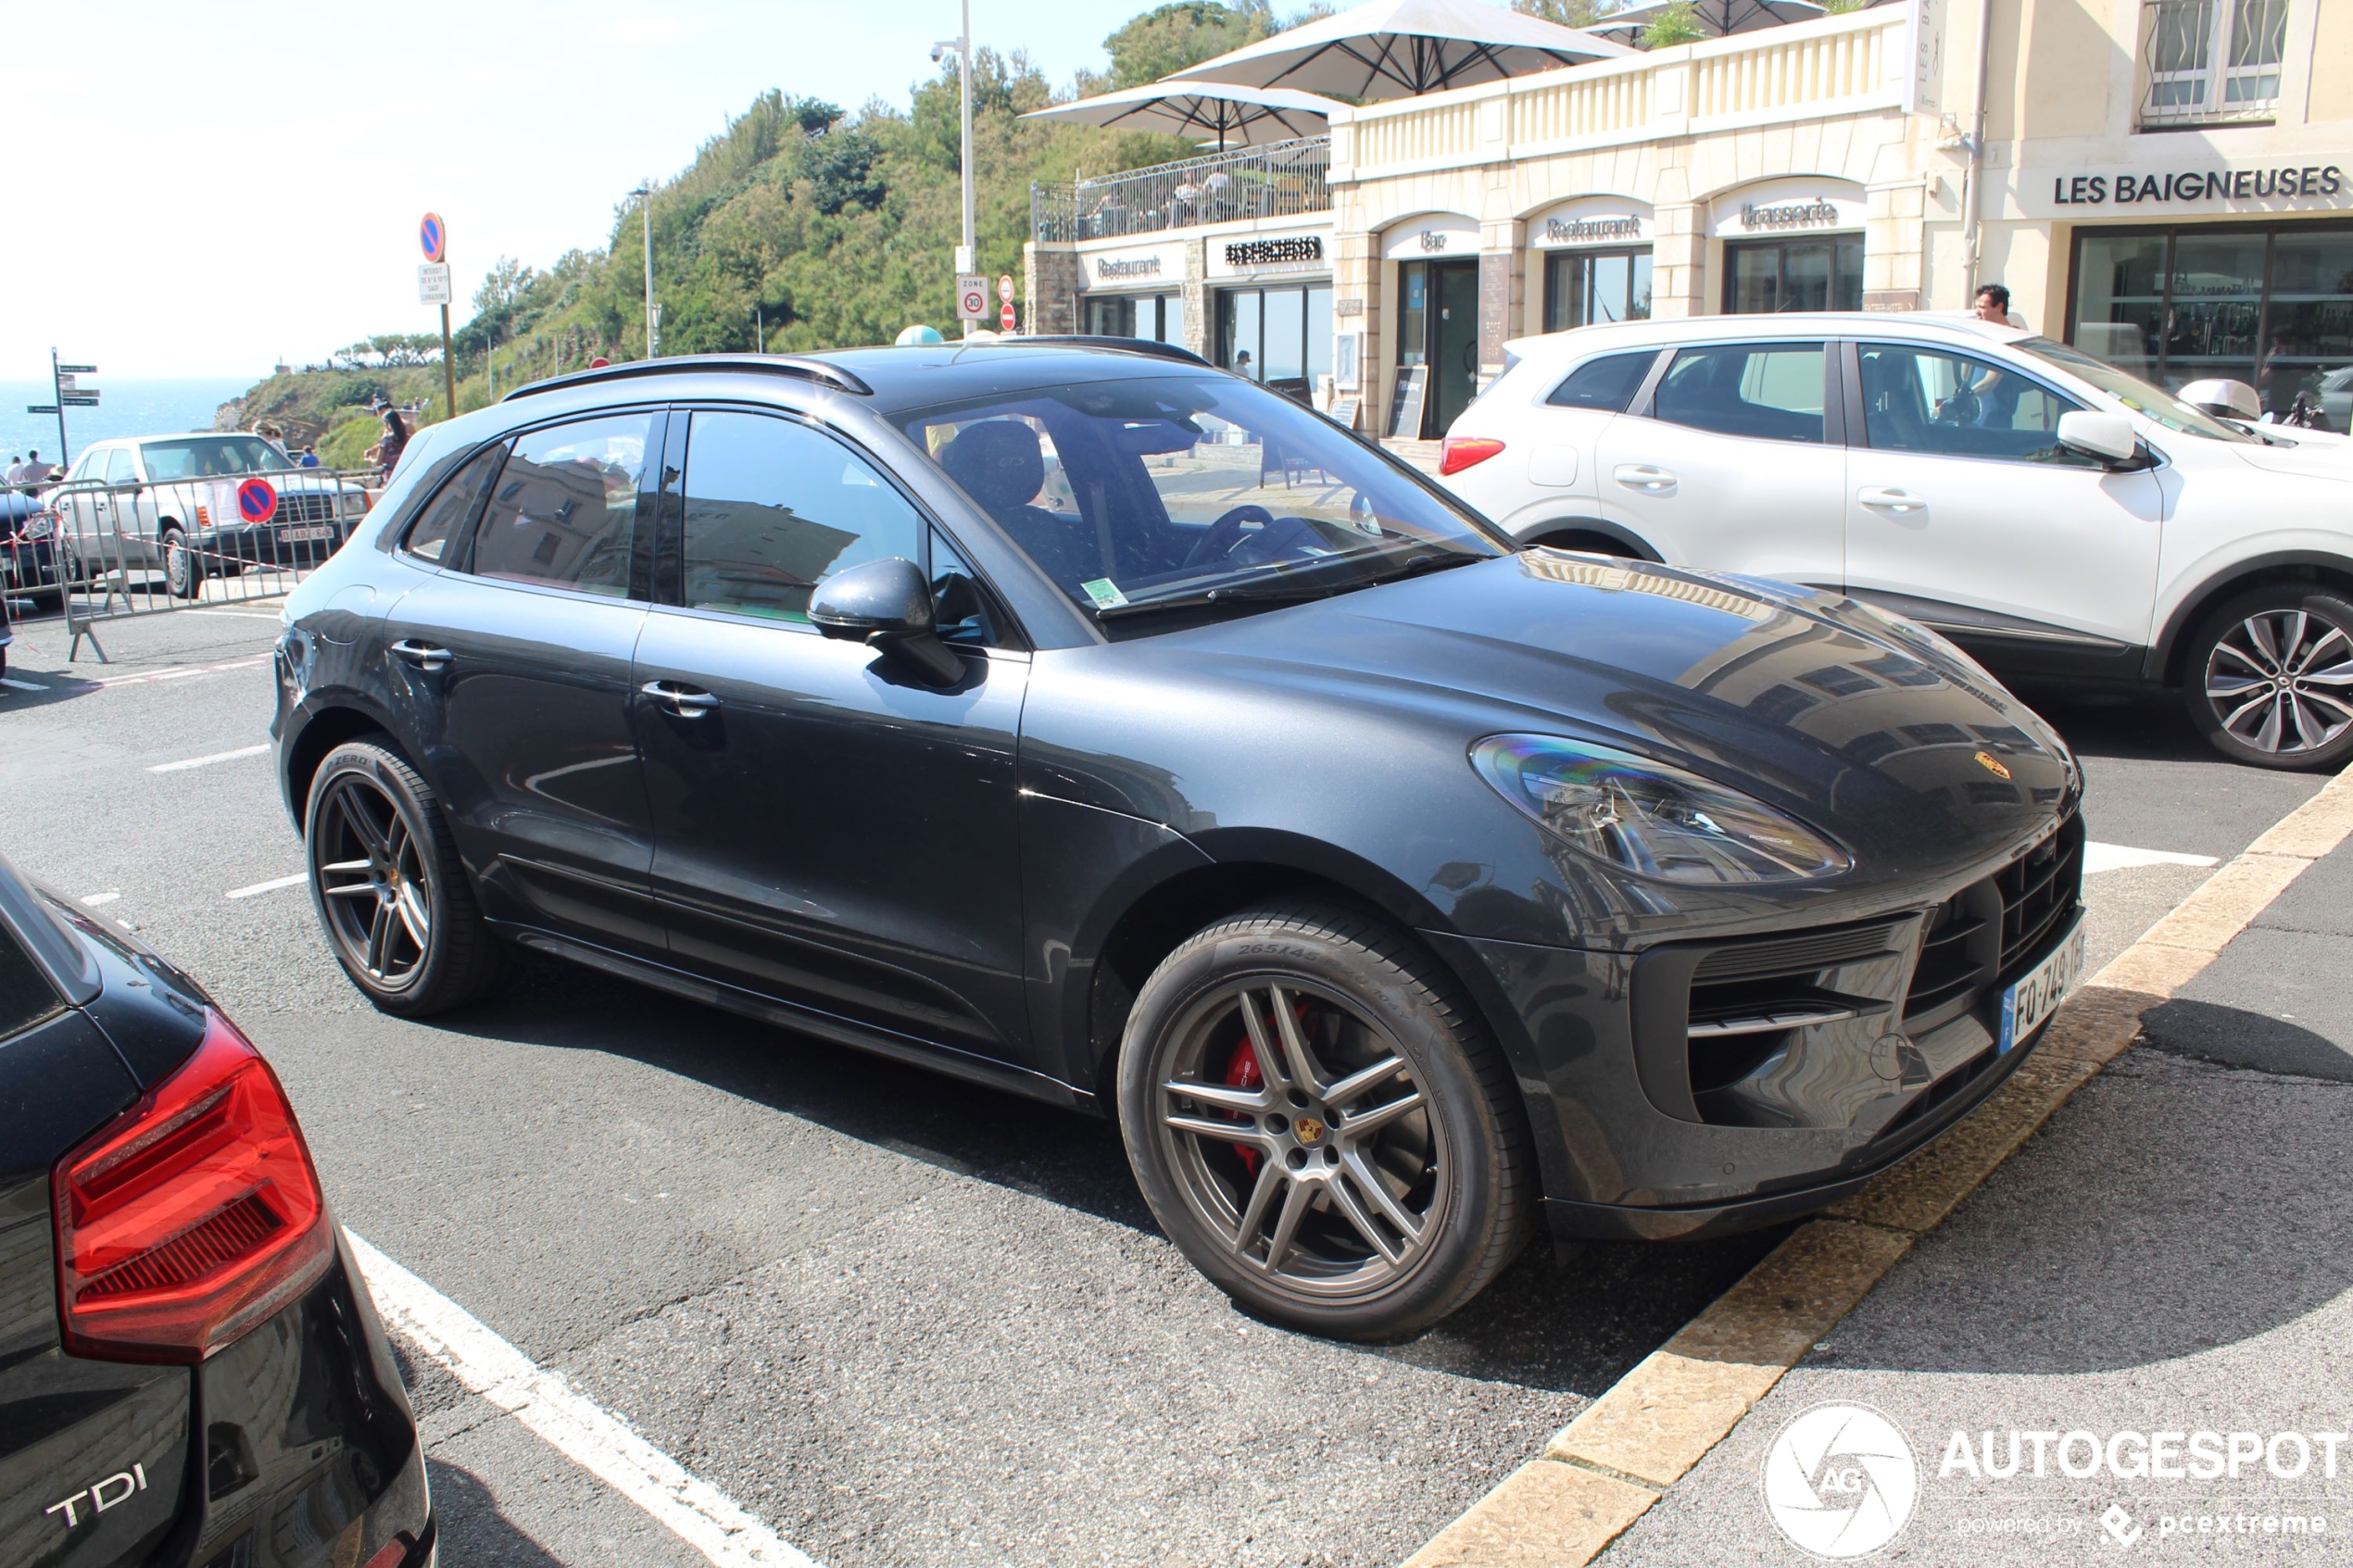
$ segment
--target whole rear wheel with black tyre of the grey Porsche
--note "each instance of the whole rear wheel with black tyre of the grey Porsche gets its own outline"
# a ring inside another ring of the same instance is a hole
[[[327,752],[304,813],[311,907],[327,947],[386,1013],[426,1018],[506,971],[433,788],[393,750]]]

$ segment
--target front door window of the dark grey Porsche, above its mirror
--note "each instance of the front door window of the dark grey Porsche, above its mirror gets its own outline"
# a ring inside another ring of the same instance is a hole
[[[687,433],[685,604],[809,618],[861,562],[922,559],[925,520],[831,435],[767,414],[701,411]]]

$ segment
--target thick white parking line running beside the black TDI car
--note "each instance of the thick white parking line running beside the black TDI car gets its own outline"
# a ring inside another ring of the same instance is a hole
[[[581,1396],[562,1373],[551,1373],[492,1333],[454,1300],[353,1237],[353,1255],[384,1319],[468,1389],[511,1413],[560,1455],[598,1476],[664,1523],[678,1540],[720,1568],[819,1568],[758,1516],[687,1469],[619,1418]]]

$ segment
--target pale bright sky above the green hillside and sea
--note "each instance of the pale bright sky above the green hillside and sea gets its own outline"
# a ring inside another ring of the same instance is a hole
[[[1101,71],[1153,0],[972,0],[981,47]],[[0,381],[264,376],[433,331],[416,223],[464,320],[499,256],[605,244],[760,92],[906,108],[958,0],[75,0],[7,12]],[[35,63],[38,61],[38,63]],[[941,266],[948,261],[941,259]]]

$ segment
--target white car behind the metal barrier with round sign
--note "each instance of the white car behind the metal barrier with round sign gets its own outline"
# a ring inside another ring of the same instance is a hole
[[[273,510],[245,522],[238,487],[261,480]],[[296,468],[259,435],[200,430],[96,442],[45,496],[73,581],[162,576],[193,599],[207,576],[313,567],[367,515],[367,487]]]

